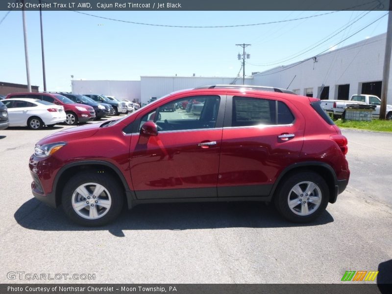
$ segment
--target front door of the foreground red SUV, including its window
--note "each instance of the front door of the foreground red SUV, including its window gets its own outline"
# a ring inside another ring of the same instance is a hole
[[[177,109],[192,101],[190,109]],[[172,100],[139,116],[153,121],[157,136],[132,134],[130,170],[138,199],[217,197],[225,98]],[[222,106],[223,105],[223,106]]]

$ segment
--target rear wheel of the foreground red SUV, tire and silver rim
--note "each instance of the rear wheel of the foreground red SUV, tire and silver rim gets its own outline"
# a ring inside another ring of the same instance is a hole
[[[314,190],[312,190],[313,186],[310,183],[315,185]],[[293,192],[298,187],[303,192],[300,195],[298,195],[299,191],[298,194]],[[308,188],[311,189],[309,195],[306,194]],[[280,182],[274,196],[275,206],[279,213],[285,219],[299,223],[310,222],[319,217],[327,207],[328,199],[329,189],[325,180],[318,173],[310,171],[292,173],[285,177]],[[292,202],[291,208],[289,201]],[[316,202],[319,203],[316,204]],[[308,209],[307,213],[306,208]]]

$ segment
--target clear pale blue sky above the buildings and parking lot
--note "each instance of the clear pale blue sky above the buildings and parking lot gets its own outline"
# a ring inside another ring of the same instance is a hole
[[[91,11],[124,21],[159,25],[248,25],[291,20],[327,11]],[[0,11],[0,20],[6,15]],[[71,91],[73,79],[140,80],[140,76],[236,77],[246,48],[245,75],[263,72],[373,37],[387,30],[385,11],[340,11],[270,25],[228,28],[176,28],[135,25],[73,11],[44,11],[48,91]],[[355,22],[358,20],[357,22]],[[354,24],[352,24],[355,22]],[[40,19],[26,12],[30,80],[43,91]],[[347,25],[351,26],[346,27]],[[364,30],[358,30],[369,25]],[[345,28],[346,27],[346,28]],[[340,33],[339,30],[342,30]],[[336,36],[333,36],[336,34]],[[330,38],[326,40],[326,38]],[[0,24],[0,81],[26,84],[22,12]],[[319,44],[324,41],[324,43]],[[343,41],[343,42],[342,42]],[[342,42],[342,43],[341,43]],[[341,43],[339,45],[336,45]],[[319,45],[319,46],[318,46]],[[315,48],[313,48],[315,47]],[[313,49],[312,49],[313,48]],[[304,52],[309,50],[308,52]],[[303,53],[303,54],[300,54]],[[242,76],[242,71],[241,71]]]

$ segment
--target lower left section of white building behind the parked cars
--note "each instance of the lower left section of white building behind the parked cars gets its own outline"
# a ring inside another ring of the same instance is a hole
[[[73,80],[72,93],[102,94],[118,99],[140,101],[140,81]]]

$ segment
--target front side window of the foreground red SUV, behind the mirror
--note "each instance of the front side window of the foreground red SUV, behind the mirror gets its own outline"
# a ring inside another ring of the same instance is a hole
[[[147,121],[156,123],[159,131],[214,128],[220,101],[219,96],[195,96],[174,100],[143,116],[139,131]]]

